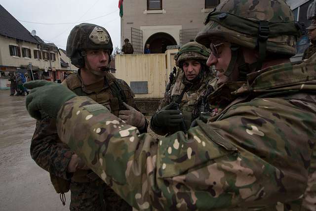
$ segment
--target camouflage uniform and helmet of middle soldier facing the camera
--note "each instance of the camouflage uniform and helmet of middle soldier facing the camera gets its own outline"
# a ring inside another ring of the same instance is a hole
[[[176,131],[189,129],[191,123],[200,116],[201,112],[210,111],[207,96],[216,88],[216,78],[213,72],[206,66],[208,56],[209,50],[197,42],[188,42],[181,47],[175,56],[179,69],[174,83],[170,89],[164,93],[158,110],[151,120],[150,127],[155,133],[165,135],[167,133],[172,134]],[[191,81],[187,80],[182,70],[183,63],[188,60],[198,61],[201,66],[197,77]],[[179,105],[184,126],[170,128],[159,123],[157,118],[159,112],[164,110],[165,107],[171,103]]]

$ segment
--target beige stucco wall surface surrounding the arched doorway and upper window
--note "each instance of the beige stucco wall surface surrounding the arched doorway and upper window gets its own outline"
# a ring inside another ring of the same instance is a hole
[[[146,38],[158,32],[153,30],[154,27],[152,26],[201,29],[204,26],[203,21],[210,11],[210,9],[204,9],[205,0],[162,0],[162,13],[154,14],[147,13],[147,0],[126,0],[123,3],[121,38],[122,40],[125,38],[131,40],[131,27],[136,29],[142,27],[146,31],[145,35],[143,32],[143,45],[145,45]],[[173,33],[172,36],[179,44],[179,29],[174,28],[173,31],[175,30],[178,30],[178,34]],[[160,32],[165,31],[162,28]]]

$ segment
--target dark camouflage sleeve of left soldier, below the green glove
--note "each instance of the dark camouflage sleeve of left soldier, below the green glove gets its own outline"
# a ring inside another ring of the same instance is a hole
[[[67,167],[72,152],[62,142],[59,142],[56,121],[47,116],[37,121],[31,142],[31,156],[33,160],[50,173],[64,179],[69,179]]]

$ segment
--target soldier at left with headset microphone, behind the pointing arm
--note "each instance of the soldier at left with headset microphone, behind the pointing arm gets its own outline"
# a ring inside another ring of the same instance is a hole
[[[136,108],[133,92],[123,80],[116,79],[108,71],[112,50],[111,38],[103,27],[93,24],[76,26],[68,38],[67,55],[80,69],[67,77],[63,84],[77,95],[88,96],[106,106],[114,115],[138,127],[141,132],[146,132],[144,116],[132,108]],[[127,111],[127,108],[133,112]],[[132,210],[92,170],[84,166],[67,145],[62,144],[55,124],[48,115],[43,115],[37,122],[31,155],[41,168],[49,171],[58,193],[63,194],[70,188],[70,210]]]

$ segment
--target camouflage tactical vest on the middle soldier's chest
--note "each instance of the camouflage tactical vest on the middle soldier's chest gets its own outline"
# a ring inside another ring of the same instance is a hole
[[[198,84],[192,84],[186,89],[188,82],[185,81],[183,71],[177,74],[176,82],[171,89],[171,102],[180,104],[180,110],[186,125],[190,128],[191,123],[198,117],[200,105],[205,95],[216,88],[216,79],[212,74],[205,74]]]

